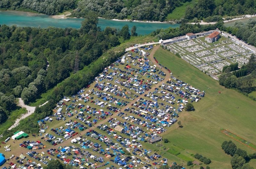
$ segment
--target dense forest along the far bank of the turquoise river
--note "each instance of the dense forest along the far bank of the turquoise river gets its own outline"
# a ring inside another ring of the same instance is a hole
[[[218,22],[222,17],[256,13],[256,0],[1,0],[1,10],[22,10],[57,15],[72,11],[71,17],[84,18],[88,12],[107,19],[166,21],[176,7],[187,5],[185,22]]]

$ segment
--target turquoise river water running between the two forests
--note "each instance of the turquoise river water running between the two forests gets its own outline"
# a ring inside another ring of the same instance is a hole
[[[0,24],[17,25],[17,26],[31,26],[46,28],[48,26],[66,28],[80,28],[83,18],[52,18],[49,15],[34,14],[21,11],[0,11]],[[116,27],[121,29],[124,25],[129,25],[131,30],[132,26],[137,27],[137,33],[141,35],[148,34],[156,29],[179,27],[180,24],[168,24],[168,23],[145,23],[145,22],[129,22],[129,21],[114,21],[108,19],[99,18],[98,26],[104,29],[106,26]]]

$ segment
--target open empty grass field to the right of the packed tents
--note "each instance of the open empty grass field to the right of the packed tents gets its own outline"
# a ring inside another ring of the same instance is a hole
[[[164,145],[168,147],[175,144],[189,153],[198,152],[212,160],[209,165],[211,168],[230,168],[231,157],[225,154],[220,146],[223,141],[231,138],[221,133],[221,129],[228,129],[255,144],[255,101],[234,90],[221,87],[218,81],[167,50],[160,48],[155,57],[168,67],[175,77],[180,76],[180,80],[190,82],[206,92],[200,104],[195,105],[195,111],[180,113],[179,120],[183,128],[176,125],[171,131],[168,130],[169,134],[165,137],[170,143]],[[218,91],[221,94],[218,94]],[[239,142],[233,142],[248,153],[255,152]],[[249,164],[255,166],[256,161],[252,160]]]

